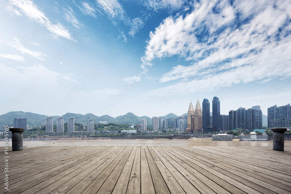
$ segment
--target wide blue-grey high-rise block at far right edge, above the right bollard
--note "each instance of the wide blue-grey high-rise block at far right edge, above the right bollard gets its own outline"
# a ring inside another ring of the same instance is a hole
[[[290,104],[287,104],[285,106],[275,105],[268,108],[268,127],[291,127],[291,125],[288,124],[290,119]]]

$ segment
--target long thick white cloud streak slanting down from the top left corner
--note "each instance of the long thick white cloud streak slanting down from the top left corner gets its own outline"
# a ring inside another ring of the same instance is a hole
[[[8,6],[10,7],[17,7],[20,12],[22,12],[24,15],[29,17],[31,20],[34,20],[41,24],[42,26],[45,26],[49,31],[52,33],[62,36],[64,38],[67,38],[69,40],[72,40],[72,37],[68,30],[61,24],[52,24],[52,22],[45,16],[43,12],[41,12],[38,9],[38,6],[36,6],[33,1],[29,0],[10,0],[7,2]],[[13,8],[16,12],[16,9]],[[17,15],[19,16],[19,11],[17,10]]]

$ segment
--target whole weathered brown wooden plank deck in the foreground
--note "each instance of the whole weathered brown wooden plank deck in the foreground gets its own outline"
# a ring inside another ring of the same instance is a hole
[[[290,147],[54,146],[8,156],[0,193],[291,193]]]

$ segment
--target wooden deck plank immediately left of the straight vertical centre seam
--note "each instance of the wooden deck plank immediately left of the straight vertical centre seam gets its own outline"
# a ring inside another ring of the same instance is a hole
[[[136,149],[126,193],[141,193],[141,147]]]

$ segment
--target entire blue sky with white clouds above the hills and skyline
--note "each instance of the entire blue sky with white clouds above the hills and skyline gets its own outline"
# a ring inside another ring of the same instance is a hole
[[[182,115],[290,103],[291,3],[0,1],[0,114]]]

